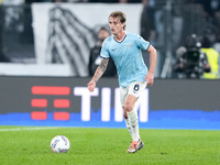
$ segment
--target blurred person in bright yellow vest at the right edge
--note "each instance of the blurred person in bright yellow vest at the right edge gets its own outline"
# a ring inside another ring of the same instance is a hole
[[[209,37],[201,37],[201,52],[206,53],[208,62],[211,68],[210,73],[205,73],[205,79],[218,79],[219,78],[219,53],[211,47]]]

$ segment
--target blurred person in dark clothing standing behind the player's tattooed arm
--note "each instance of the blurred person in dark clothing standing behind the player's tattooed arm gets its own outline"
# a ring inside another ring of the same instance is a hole
[[[101,57],[99,56],[100,55],[99,53],[101,51],[101,45],[102,45],[105,38],[107,38],[109,35],[110,35],[110,32],[105,26],[102,26],[98,32],[98,42],[95,45],[95,47],[92,47],[90,50],[89,76],[94,76],[97,67],[101,63]],[[110,57],[108,67],[107,67],[107,69],[106,69],[106,72],[105,72],[102,77],[113,77],[116,75],[117,75],[117,68],[116,68],[116,65],[114,65],[113,61]]]

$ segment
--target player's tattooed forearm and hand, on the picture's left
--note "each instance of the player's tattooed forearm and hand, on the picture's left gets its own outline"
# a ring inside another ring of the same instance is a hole
[[[97,67],[96,73],[94,74],[94,77],[87,84],[88,90],[91,92],[96,88],[96,82],[99,80],[99,78],[103,75],[103,73],[107,69],[109,63],[109,58],[102,58],[101,64]]]

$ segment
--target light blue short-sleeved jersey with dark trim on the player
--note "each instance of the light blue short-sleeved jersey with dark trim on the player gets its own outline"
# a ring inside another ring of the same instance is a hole
[[[133,81],[143,81],[147,67],[142,57],[142,50],[146,51],[150,43],[140,35],[127,32],[121,42],[113,35],[107,37],[102,44],[100,56],[113,59],[118,75],[119,86],[128,87]]]

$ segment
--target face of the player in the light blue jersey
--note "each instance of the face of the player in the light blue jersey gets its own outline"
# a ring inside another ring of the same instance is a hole
[[[112,16],[109,18],[109,28],[113,35],[117,35],[121,31],[123,31],[123,26],[124,26],[124,23],[121,23],[119,18],[112,18]]]

